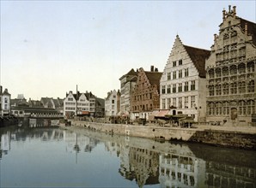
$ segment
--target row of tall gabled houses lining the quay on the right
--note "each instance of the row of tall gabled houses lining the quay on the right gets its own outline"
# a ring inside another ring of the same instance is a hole
[[[163,72],[151,66],[121,76],[120,111],[114,115],[149,120],[183,114],[198,122],[248,125],[255,121],[255,62],[256,24],[229,6],[210,50],[183,44],[177,35]]]

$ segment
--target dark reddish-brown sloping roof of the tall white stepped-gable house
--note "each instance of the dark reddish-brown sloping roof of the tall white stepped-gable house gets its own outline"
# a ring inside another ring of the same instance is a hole
[[[198,49],[192,46],[184,45],[188,56],[198,69],[199,77],[205,78],[205,60],[210,56],[210,50]]]

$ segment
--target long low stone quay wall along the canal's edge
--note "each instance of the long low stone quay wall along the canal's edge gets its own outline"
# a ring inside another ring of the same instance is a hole
[[[71,126],[82,126],[94,131],[155,140],[177,140],[211,144],[245,150],[256,150],[255,132],[212,130],[203,127],[180,128],[162,126],[134,126],[71,120]]]

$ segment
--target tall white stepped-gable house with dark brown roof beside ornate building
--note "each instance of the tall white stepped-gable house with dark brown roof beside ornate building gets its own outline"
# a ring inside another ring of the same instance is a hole
[[[205,121],[205,59],[209,50],[182,44],[177,35],[160,80],[160,109]]]

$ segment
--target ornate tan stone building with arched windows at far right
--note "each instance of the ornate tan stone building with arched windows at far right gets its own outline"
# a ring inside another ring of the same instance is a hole
[[[207,72],[207,121],[246,126],[255,114],[256,24],[236,16],[235,6],[222,10]]]

